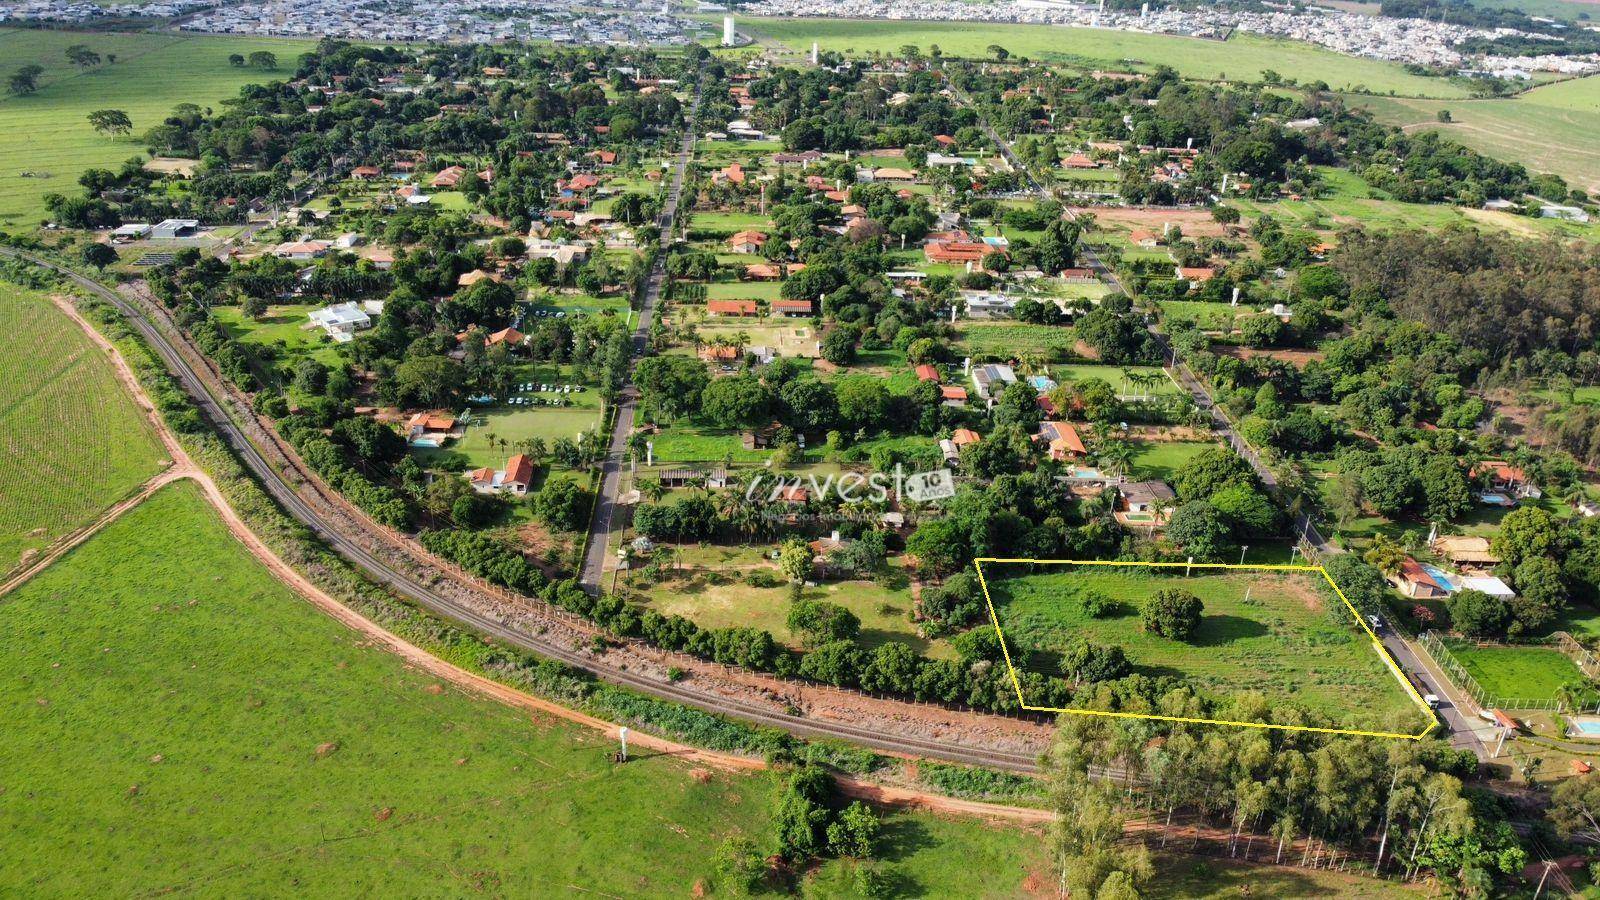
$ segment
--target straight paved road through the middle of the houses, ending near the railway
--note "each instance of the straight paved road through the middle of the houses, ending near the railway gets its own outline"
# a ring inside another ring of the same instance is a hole
[[[634,359],[645,356],[650,343],[650,323],[654,320],[656,303],[661,299],[661,288],[667,282],[667,255],[677,229],[678,200],[683,195],[683,176],[688,171],[690,157],[694,155],[694,115],[699,112],[701,85],[694,83],[694,104],[683,119],[683,146],[678,147],[677,165],[672,168],[672,186],[667,189],[667,202],[661,208],[661,253],[650,269],[645,282],[643,298],[638,304],[638,327],[634,328]],[[589,522],[589,546],[584,548],[584,567],[578,580],[584,589],[598,594],[600,580],[605,577],[605,560],[611,548],[611,533],[619,528],[616,524],[618,498],[622,490],[622,463],[627,458],[627,437],[634,432],[634,412],[638,405],[638,391],[632,381],[622,386],[618,397],[616,423],[611,429],[611,447],[606,448],[600,463],[600,496],[595,498],[594,519]]]

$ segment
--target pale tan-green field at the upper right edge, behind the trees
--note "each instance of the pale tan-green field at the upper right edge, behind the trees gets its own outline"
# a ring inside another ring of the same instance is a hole
[[[1600,77],[1541,85],[1509,99],[1349,98],[1379,122],[1406,131],[1442,131],[1491,157],[1600,189]],[[1450,112],[1450,123],[1438,112]]]

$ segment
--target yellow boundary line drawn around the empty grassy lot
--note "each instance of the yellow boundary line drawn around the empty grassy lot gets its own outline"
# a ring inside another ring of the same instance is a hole
[[[1403,732],[1366,732],[1360,729],[1325,729],[1318,725],[1277,725],[1270,722],[1232,722],[1227,719],[1200,719],[1194,716],[1158,716],[1154,713],[1112,713],[1107,709],[1030,706],[1027,700],[1022,698],[1022,681],[1018,677],[1016,666],[1011,663],[1011,649],[1006,647],[1005,631],[1000,628],[1000,617],[995,613],[995,604],[989,597],[989,581],[984,578],[984,565],[982,565],[986,562],[1030,564],[1030,565],[1106,565],[1106,567],[1123,567],[1123,569],[1186,569],[1186,570],[1242,569],[1251,572],[1315,572],[1322,575],[1323,581],[1326,581],[1328,586],[1333,588],[1333,593],[1339,596],[1339,599],[1344,602],[1344,609],[1350,610],[1350,617],[1355,620],[1357,625],[1362,626],[1362,631],[1365,631],[1366,636],[1371,637],[1373,650],[1378,652],[1378,658],[1382,660],[1386,666],[1389,666],[1389,673],[1395,676],[1395,681],[1400,682],[1400,687],[1403,687],[1411,701],[1416,703],[1416,708],[1422,711],[1422,716],[1427,719],[1429,725],[1414,735],[1408,735]],[[1010,673],[1011,676],[1011,687],[1016,689],[1016,701],[1021,703],[1022,709],[1030,709],[1034,713],[1069,713],[1074,716],[1106,716],[1112,719],[1154,719],[1160,722],[1187,722],[1195,725],[1234,725],[1240,729],[1274,729],[1282,732],[1320,732],[1328,735],[1360,735],[1371,738],[1403,738],[1403,740],[1424,738],[1429,733],[1432,733],[1434,729],[1438,727],[1438,717],[1435,716],[1434,709],[1427,705],[1427,701],[1422,700],[1422,695],[1416,692],[1416,687],[1411,684],[1411,679],[1405,677],[1405,673],[1400,671],[1400,665],[1395,661],[1394,657],[1389,655],[1389,649],[1384,647],[1384,642],[1379,641],[1378,634],[1374,634],[1373,629],[1366,625],[1366,620],[1362,618],[1362,613],[1355,609],[1355,604],[1352,604],[1350,599],[1344,596],[1344,591],[1339,589],[1339,585],[1333,581],[1333,577],[1328,575],[1328,570],[1322,565],[1266,565],[1266,564],[1238,565],[1229,562],[1123,562],[1110,559],[1000,559],[986,556],[974,559],[973,569],[978,570],[978,585],[984,589],[984,604],[989,607],[989,621],[995,626],[995,634],[1000,636],[1000,652],[1005,655],[1005,668],[1006,673]]]

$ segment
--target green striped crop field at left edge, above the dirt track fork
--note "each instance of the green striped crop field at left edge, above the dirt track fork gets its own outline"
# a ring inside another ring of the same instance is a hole
[[[0,282],[0,572],[91,520],[165,455],[110,362],[38,291]],[[21,340],[24,338],[26,340]]]

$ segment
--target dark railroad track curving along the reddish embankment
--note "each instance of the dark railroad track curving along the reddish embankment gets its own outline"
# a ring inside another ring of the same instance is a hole
[[[344,536],[338,528],[328,525],[322,516],[306,503],[299,493],[278,474],[277,469],[261,455],[259,448],[245,436],[245,431],[227,415],[224,404],[216,399],[208,389],[205,381],[195,373],[189,362],[178,352],[165,333],[162,333],[141,309],[123,299],[122,295],[107,288],[106,285],[86,279],[72,269],[59,266],[50,259],[29,253],[26,250],[18,250],[11,247],[0,247],[0,256],[11,256],[22,259],[34,266],[50,269],[69,279],[80,288],[93,293],[94,296],[110,303],[118,312],[133,325],[134,330],[144,336],[146,343],[160,356],[162,362],[166,365],[168,372],[178,380],[184,391],[195,400],[202,413],[211,421],[216,431],[229,444],[234,453],[242,463],[251,471],[256,480],[266,488],[269,495],[296,520],[310,528],[322,541],[325,541],[334,552],[342,556],[352,565],[366,573],[368,578],[378,581],[397,594],[410,599],[411,602],[421,605],[422,609],[440,615],[443,618],[458,621],[501,641],[507,645],[518,647],[530,653],[539,657],[558,660],[576,669],[584,669],[594,676],[606,681],[610,684],[629,687],[661,700],[670,700],[674,703],[683,703],[685,706],[693,706],[704,709],[707,713],[725,714],[746,722],[754,722],[758,725],[770,725],[782,729],[789,733],[806,737],[806,738],[835,738],[850,743],[858,743],[872,749],[878,749],[890,754],[915,756],[915,757],[931,757],[944,759],[950,762],[962,762],[968,765],[982,765],[989,769],[1003,769],[1008,772],[1037,772],[1038,761],[1030,754],[1008,753],[998,749],[978,748],[954,741],[936,741],[912,737],[888,735],[882,730],[866,729],[859,725],[848,725],[842,722],[824,722],[805,719],[800,716],[789,716],[786,713],[774,713],[771,709],[763,709],[760,706],[742,703],[738,700],[728,700],[723,697],[710,697],[699,693],[688,685],[672,684],[666,681],[658,681],[653,677],[645,677],[630,673],[621,666],[606,665],[603,660],[595,660],[584,653],[574,652],[568,647],[562,647],[552,641],[544,641],[539,636],[526,634],[515,628],[507,626],[493,617],[483,615],[467,605],[462,605],[434,589],[422,585],[408,575],[397,572],[384,560],[378,559],[365,548],[362,548],[354,540]]]

